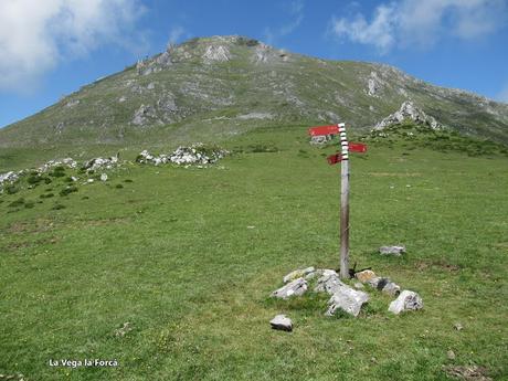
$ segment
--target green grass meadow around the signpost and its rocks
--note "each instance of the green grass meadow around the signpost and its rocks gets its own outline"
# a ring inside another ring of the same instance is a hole
[[[226,146],[235,154],[208,169],[133,165],[106,183],[80,180],[66,197],[46,199],[45,186],[25,183],[0,195],[0,373],[420,381],[475,363],[507,379],[505,156],[396,141],[353,156],[351,265],[371,266],[425,304],[392,316],[392,299],[367,289],[371,301],[354,319],[325,317],[327,297],[314,293],[268,297],[292,269],[338,266],[339,168],[321,156],[335,149],[309,146],[300,127]],[[68,186],[52,179],[53,194]],[[24,208],[31,200],[43,203]],[[375,253],[396,243],[405,256]],[[293,319],[293,332],[269,328],[276,314]],[[133,329],[116,336],[127,321]],[[119,366],[49,366],[84,358]]]

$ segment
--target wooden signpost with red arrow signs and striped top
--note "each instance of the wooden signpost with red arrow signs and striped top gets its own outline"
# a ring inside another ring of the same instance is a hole
[[[348,142],[346,125],[318,126],[309,128],[310,136],[339,135],[341,151],[327,158],[329,165],[340,162],[340,277],[349,278],[349,151],[366,152],[367,146]]]

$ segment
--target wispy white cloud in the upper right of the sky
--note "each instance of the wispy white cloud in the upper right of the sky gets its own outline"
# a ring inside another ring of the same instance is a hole
[[[375,8],[372,19],[332,18],[339,39],[374,45],[381,53],[399,46],[428,47],[444,35],[472,40],[507,24],[505,0],[401,0]]]

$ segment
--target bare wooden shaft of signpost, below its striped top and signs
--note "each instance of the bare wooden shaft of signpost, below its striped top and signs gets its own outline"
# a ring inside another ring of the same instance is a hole
[[[340,278],[349,279],[349,160],[340,162]]]

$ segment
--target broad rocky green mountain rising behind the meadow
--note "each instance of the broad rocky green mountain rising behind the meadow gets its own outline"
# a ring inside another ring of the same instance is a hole
[[[507,104],[383,64],[212,36],[169,45],[0,129],[0,147],[205,141],[281,124],[370,130],[408,100],[444,127],[508,142]]]

